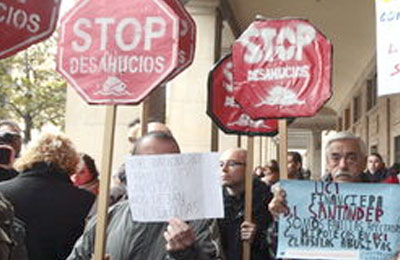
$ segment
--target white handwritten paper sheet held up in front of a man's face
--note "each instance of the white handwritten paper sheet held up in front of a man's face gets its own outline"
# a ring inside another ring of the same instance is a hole
[[[223,217],[218,154],[132,156],[125,167],[133,220]]]

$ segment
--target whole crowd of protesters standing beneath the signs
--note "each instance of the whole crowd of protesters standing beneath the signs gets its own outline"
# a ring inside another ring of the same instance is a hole
[[[132,155],[180,153],[171,131],[158,122],[129,125]],[[100,173],[94,159],[64,134],[45,133],[21,152],[22,136],[12,121],[0,121],[0,260],[87,259],[94,254],[96,197]],[[242,259],[242,242],[251,259],[275,259],[277,220],[287,212],[279,182],[279,162],[255,167],[252,221],[244,220],[247,151],[231,148],[220,155],[225,217],[196,221],[173,218],[165,223],[132,220],[122,165],[113,175],[108,212],[106,258]],[[288,178],[310,179],[298,152],[289,152]],[[363,141],[340,132],[326,146],[332,182],[399,183],[397,164],[386,168],[382,156],[367,156]],[[315,176],[313,176],[315,179]],[[278,188],[277,188],[278,187]],[[273,190],[273,193],[271,192]]]

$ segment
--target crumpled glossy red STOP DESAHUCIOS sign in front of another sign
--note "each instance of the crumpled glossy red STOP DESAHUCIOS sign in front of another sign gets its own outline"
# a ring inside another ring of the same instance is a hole
[[[332,95],[331,56],[306,20],[255,21],[233,45],[235,99],[252,118],[313,116]]]

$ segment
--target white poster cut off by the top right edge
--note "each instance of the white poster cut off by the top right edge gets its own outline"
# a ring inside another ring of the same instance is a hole
[[[400,0],[375,0],[378,96],[400,93]]]

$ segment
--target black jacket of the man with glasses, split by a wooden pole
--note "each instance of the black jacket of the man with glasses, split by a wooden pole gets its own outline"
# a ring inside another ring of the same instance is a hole
[[[244,221],[244,193],[239,197],[228,194],[223,190],[225,218],[218,220],[221,234],[221,244],[227,260],[242,259],[242,240],[240,239],[240,225]],[[253,223],[257,225],[257,233],[251,247],[252,260],[271,259],[268,254],[266,232],[272,223],[272,216],[267,209],[272,194],[267,185],[260,180],[253,179]]]

